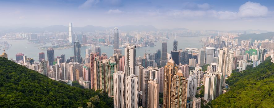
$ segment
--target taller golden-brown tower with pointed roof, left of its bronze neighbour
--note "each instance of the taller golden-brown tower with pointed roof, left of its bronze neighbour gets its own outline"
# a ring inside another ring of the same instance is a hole
[[[173,75],[178,71],[178,66],[175,64],[175,62],[170,59],[168,63],[165,65],[164,70],[164,98],[163,98],[163,108],[170,108],[171,104],[171,83]]]

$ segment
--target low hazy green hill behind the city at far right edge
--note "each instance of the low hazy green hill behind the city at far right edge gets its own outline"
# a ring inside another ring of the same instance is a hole
[[[261,33],[261,34],[246,34],[246,35],[240,35],[239,37],[237,37],[238,39],[243,39],[243,40],[247,40],[247,39],[252,39],[252,41],[254,40],[265,40],[265,39],[272,39],[272,37],[274,37],[274,32],[268,32],[268,33]]]

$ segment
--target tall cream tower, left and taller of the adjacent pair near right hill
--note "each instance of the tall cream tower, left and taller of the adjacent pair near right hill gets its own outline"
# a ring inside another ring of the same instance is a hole
[[[226,63],[227,63],[227,52],[228,48],[224,47],[220,49],[219,51],[219,61],[218,61],[218,71],[220,73],[223,73],[225,76],[225,69],[226,69]],[[223,81],[223,86],[225,86],[225,79]]]

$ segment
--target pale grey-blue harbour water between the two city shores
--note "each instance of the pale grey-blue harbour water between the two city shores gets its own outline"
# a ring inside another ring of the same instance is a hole
[[[205,36],[197,36],[197,37],[176,37],[176,40],[178,41],[178,49],[185,48],[202,48],[203,43],[200,43],[199,40],[201,40]],[[15,55],[18,52],[22,52],[25,54],[25,56],[33,58],[34,61],[39,60],[38,53],[39,52],[45,52],[45,59],[47,59],[47,51],[41,51],[39,49],[40,46],[33,44],[29,42],[28,40],[9,40],[9,39],[0,39],[1,42],[7,41],[9,44],[12,44],[11,48],[6,50],[6,53],[8,54],[8,59],[15,59]],[[168,43],[167,51],[170,52],[173,50],[173,39],[166,40]],[[141,56],[143,57],[144,53],[154,53],[157,49],[161,49],[162,42],[154,42],[155,46],[152,47],[141,47],[136,49],[136,57]],[[101,46],[101,53],[106,53],[107,56],[112,56],[113,54],[113,46]],[[2,48],[0,53],[2,54]],[[81,56],[85,57],[85,49],[91,48],[91,46],[82,46],[81,47]],[[61,56],[62,54],[66,55],[66,59],[69,58],[69,56],[74,56],[74,48],[68,48],[68,49],[60,49],[60,50],[54,50],[54,56],[55,58],[57,56]],[[124,55],[124,48],[122,48],[122,54]]]

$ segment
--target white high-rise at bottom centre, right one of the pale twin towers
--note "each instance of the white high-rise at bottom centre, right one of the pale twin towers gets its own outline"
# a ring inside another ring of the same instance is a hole
[[[134,74],[126,77],[125,102],[126,108],[138,107],[138,77]]]

